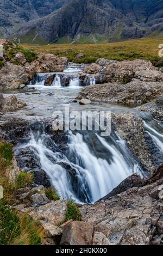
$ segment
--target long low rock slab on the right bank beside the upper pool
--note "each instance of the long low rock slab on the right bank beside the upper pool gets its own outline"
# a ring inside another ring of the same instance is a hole
[[[161,95],[162,88],[161,82],[143,82],[140,80],[133,80],[127,84],[96,84],[96,86],[85,87],[80,92],[79,99],[86,98],[91,101],[139,106]]]

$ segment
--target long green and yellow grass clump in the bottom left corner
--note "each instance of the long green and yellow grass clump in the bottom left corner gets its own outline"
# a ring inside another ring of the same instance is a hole
[[[6,200],[0,201],[0,245],[40,245],[41,232],[38,223],[18,216]]]

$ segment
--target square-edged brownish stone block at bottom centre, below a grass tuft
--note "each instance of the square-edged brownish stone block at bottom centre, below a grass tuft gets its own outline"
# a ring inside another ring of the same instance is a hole
[[[93,224],[74,221],[63,230],[60,245],[92,245]]]

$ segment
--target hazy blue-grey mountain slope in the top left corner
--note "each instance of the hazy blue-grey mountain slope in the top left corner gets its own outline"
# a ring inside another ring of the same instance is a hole
[[[0,36],[7,37],[24,23],[51,14],[67,0],[0,0]]]

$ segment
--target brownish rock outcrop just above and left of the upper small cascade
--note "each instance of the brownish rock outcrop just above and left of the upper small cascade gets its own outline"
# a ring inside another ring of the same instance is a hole
[[[39,54],[39,58],[31,63],[36,68],[36,72],[62,72],[68,59],[57,57],[53,54]]]

